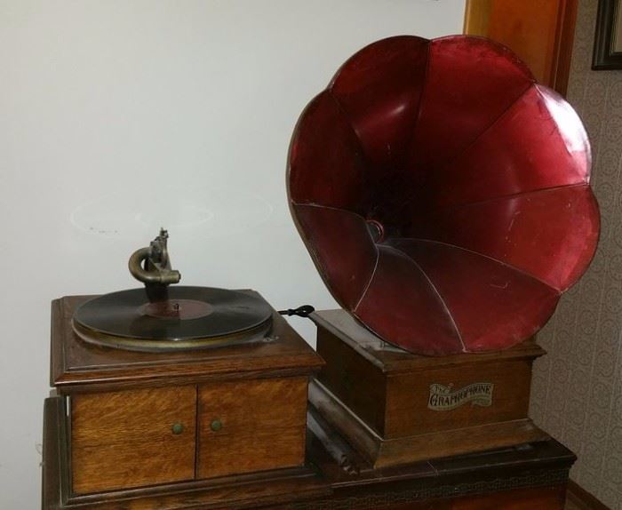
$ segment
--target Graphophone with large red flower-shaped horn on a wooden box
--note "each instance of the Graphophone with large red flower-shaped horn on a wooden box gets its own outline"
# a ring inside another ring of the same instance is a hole
[[[530,338],[599,233],[570,105],[489,40],[391,37],[309,103],[289,163],[291,213],[343,307],[312,316],[323,418],[374,466],[546,438]]]

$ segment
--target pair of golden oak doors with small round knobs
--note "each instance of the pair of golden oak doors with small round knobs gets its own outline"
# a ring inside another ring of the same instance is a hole
[[[76,394],[72,488],[87,494],[302,466],[306,416],[306,377]]]

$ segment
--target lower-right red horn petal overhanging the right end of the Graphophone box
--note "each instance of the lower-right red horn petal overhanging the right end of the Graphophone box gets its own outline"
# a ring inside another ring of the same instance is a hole
[[[554,312],[558,291],[498,260],[435,241],[400,239],[392,246],[434,283],[468,352],[512,346]]]

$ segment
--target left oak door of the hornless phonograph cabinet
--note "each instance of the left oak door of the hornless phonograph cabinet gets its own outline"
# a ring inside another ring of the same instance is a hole
[[[74,395],[74,493],[193,479],[195,424],[196,386]]]

